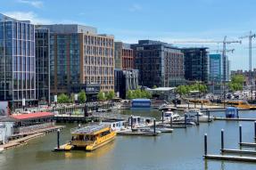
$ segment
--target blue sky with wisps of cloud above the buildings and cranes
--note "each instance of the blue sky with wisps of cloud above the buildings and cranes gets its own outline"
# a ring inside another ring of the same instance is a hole
[[[92,26],[115,40],[136,43],[160,40],[178,47],[209,47],[221,44],[180,41],[240,40],[256,33],[255,0],[0,0],[0,12],[35,24],[72,23]],[[248,38],[227,45],[231,69],[248,69]],[[252,68],[256,68],[256,38],[252,39]]]

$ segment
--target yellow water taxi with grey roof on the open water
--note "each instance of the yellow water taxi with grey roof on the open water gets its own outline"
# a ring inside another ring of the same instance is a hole
[[[114,132],[110,125],[87,125],[71,129],[72,138],[67,144],[62,145],[59,149],[62,151],[70,150],[96,150],[103,145],[115,139]]]

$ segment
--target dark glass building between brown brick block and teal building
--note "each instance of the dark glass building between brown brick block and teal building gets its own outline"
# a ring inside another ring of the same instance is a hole
[[[183,48],[181,51],[185,57],[185,78],[189,81],[209,80],[209,54],[208,48]]]

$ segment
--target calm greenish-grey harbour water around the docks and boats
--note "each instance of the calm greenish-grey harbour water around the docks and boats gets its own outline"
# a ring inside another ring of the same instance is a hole
[[[240,112],[240,117],[256,117],[255,111]],[[161,117],[157,110],[126,110],[124,114]],[[215,115],[224,116],[218,112]],[[243,141],[253,142],[253,122],[241,122]],[[70,140],[67,124],[61,134],[62,143]],[[156,137],[117,136],[116,140],[93,152],[52,152],[56,134],[29,141],[21,147],[0,154],[1,170],[247,170],[256,163],[204,160],[203,134],[208,134],[208,152],[219,154],[220,130],[225,129],[225,148],[238,148],[238,122],[215,121],[211,124],[175,129],[172,134]],[[247,149],[248,150],[248,149]],[[251,149],[252,150],[252,149]]]

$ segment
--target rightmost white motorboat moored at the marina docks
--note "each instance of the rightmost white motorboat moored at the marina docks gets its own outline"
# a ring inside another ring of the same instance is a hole
[[[193,119],[195,122],[197,122],[197,117],[199,119],[199,122],[211,122],[214,120],[214,117],[207,115],[204,115],[200,109],[188,109],[186,110],[187,119]]]

